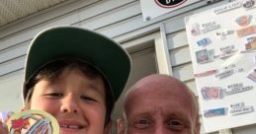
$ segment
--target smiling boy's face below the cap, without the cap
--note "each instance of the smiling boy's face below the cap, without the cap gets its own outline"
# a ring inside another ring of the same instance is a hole
[[[51,113],[61,134],[103,134],[105,125],[105,86],[100,78],[88,79],[78,69],[65,69],[58,79],[36,84],[31,109]]]

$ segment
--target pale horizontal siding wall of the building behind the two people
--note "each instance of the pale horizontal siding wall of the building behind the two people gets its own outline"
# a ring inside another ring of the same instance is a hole
[[[163,33],[169,50],[171,75],[185,82],[197,95],[184,18],[224,2],[209,5],[206,1],[200,1],[149,22],[143,22],[139,0],[76,0],[2,27],[0,98],[8,103],[0,102],[0,110],[19,109],[22,104],[23,69],[29,43],[36,33],[59,25],[77,26],[103,33],[121,44],[148,33]],[[253,134],[256,125],[234,128],[232,131],[234,134]],[[204,129],[202,133],[205,133]]]

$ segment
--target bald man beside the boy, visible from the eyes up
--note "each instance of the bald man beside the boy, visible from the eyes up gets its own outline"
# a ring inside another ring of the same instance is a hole
[[[199,134],[199,107],[182,82],[167,75],[147,76],[125,100],[128,134]]]

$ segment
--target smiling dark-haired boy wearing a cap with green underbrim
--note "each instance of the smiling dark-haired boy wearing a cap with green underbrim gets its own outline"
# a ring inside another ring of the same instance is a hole
[[[74,27],[45,30],[27,55],[25,109],[52,114],[61,134],[109,133],[129,72],[127,51],[110,38]]]

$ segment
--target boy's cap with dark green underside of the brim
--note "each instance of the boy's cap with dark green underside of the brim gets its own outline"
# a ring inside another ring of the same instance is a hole
[[[26,65],[25,83],[40,69],[59,57],[77,57],[97,68],[118,100],[128,81],[131,62],[128,52],[111,38],[77,27],[54,27],[38,33],[32,40]],[[23,98],[28,90],[23,88]]]

